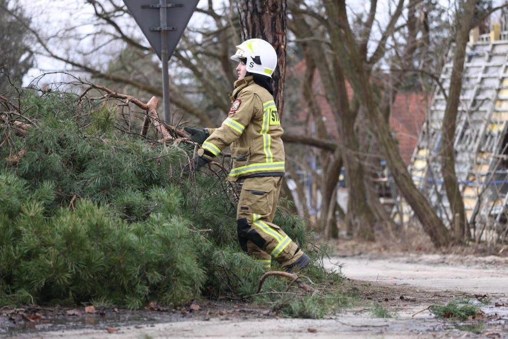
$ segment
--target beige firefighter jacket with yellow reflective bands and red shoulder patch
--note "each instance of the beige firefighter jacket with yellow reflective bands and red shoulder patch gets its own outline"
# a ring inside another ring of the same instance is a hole
[[[229,181],[259,173],[284,173],[284,131],[274,98],[252,76],[235,81],[234,87],[228,117],[221,127],[207,129],[210,137],[202,149],[217,156],[231,146]]]

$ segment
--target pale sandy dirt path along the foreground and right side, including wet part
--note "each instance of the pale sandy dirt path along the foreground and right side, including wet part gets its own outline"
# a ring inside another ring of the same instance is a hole
[[[492,258],[464,261],[464,258],[415,255],[361,255],[334,257],[352,279],[367,302],[330,319],[274,319],[241,309],[221,312],[206,319],[172,321],[152,325],[121,325],[108,334],[106,325],[64,331],[26,333],[12,338],[508,338],[508,262]],[[332,262],[328,265],[333,267]],[[464,264],[467,262],[468,264]],[[460,323],[436,319],[421,311],[430,304],[445,304],[452,298],[489,299],[482,306],[486,317],[481,333],[464,331]],[[486,297],[484,297],[486,295]],[[371,306],[380,303],[396,312],[390,319],[375,318]],[[108,326],[112,326],[109,324]],[[487,336],[487,334],[491,334]]]

